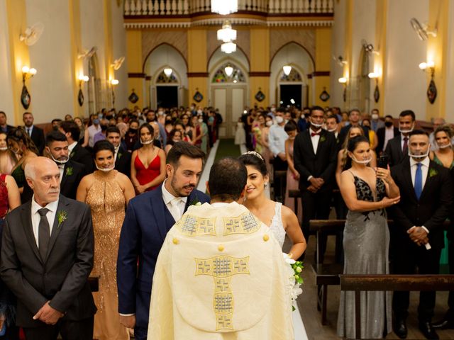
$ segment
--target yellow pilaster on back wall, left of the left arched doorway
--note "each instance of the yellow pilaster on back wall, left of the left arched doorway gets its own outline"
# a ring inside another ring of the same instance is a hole
[[[128,73],[142,73],[142,32],[141,30],[126,30],[126,60],[128,60]],[[139,97],[137,103],[128,101],[129,108],[146,105],[145,94],[143,93],[143,78],[128,78],[128,94],[135,91]]]

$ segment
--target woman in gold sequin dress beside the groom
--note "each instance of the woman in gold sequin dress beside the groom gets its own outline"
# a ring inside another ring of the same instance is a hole
[[[129,339],[120,324],[116,288],[116,258],[121,225],[128,201],[135,196],[131,181],[114,170],[114,146],[106,140],[93,148],[97,171],[85,176],[77,188],[77,200],[92,208],[94,267],[99,276],[99,292],[93,293],[98,312],[94,316],[94,339]]]

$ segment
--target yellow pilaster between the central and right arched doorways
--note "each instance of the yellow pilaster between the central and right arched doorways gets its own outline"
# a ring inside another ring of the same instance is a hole
[[[270,29],[251,28],[250,29],[250,72],[270,72]],[[258,102],[255,94],[262,90],[265,100]],[[253,106],[270,105],[270,77],[250,77],[249,78],[249,103]]]

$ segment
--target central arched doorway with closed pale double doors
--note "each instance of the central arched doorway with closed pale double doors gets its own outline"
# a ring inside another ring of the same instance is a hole
[[[248,64],[248,59],[239,49],[228,57],[218,49],[210,59],[209,103],[223,116],[219,137],[232,138],[235,135],[238,118],[248,106]]]

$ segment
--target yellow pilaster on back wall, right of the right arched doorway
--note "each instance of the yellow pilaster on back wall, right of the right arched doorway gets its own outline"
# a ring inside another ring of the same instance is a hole
[[[331,69],[331,28],[317,28],[316,29],[316,55],[315,67],[316,72],[327,72]],[[314,77],[314,94],[315,105],[329,106],[330,101],[321,101],[319,98],[323,89],[330,93],[330,77],[329,76],[316,76]]]

